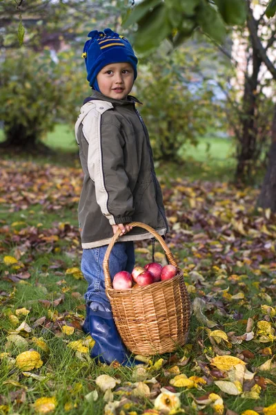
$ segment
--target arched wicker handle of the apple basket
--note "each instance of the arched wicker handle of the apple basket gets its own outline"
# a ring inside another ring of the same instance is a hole
[[[150,226],[146,225],[146,223],[141,223],[141,222],[130,222],[128,223],[129,226],[132,226],[132,228],[135,228],[136,226],[138,226],[139,228],[144,228],[146,230],[148,230],[148,232],[150,232],[156,239],[157,241],[159,241],[161,247],[164,249],[166,257],[168,258],[168,261],[170,262],[170,265],[176,266],[177,267],[177,262],[175,261],[175,258],[172,255],[172,252],[170,252],[170,249],[168,248],[168,245],[165,243],[164,239],[156,232],[156,230],[154,230],[153,228],[151,228]],[[119,234],[121,234],[121,230],[118,229],[117,232],[115,233],[115,235],[112,237],[108,248],[106,250],[106,255],[103,258],[103,273],[104,273],[104,281],[106,283],[106,291],[108,291],[109,288],[112,288],[111,285],[111,277],[110,277],[110,273],[109,273],[109,265],[108,265],[108,260],[110,257],[110,252],[113,248],[113,246],[115,245],[115,242],[117,241],[117,239],[119,239]]]

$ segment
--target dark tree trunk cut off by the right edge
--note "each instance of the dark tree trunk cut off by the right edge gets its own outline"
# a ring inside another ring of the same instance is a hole
[[[276,212],[276,104],[274,106],[272,124],[272,142],[269,151],[268,169],[257,201],[259,208]]]

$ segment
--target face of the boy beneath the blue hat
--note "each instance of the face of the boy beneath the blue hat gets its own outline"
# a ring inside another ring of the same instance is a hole
[[[108,98],[124,100],[132,90],[134,71],[130,64],[119,63],[104,66],[97,75],[99,90]]]

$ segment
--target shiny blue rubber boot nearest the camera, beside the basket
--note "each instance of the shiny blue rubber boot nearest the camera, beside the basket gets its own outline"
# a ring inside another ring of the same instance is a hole
[[[90,335],[95,340],[90,356],[100,362],[110,365],[117,360],[122,366],[135,366],[144,364],[133,359],[121,341],[121,337],[115,326],[111,311],[89,312]]]

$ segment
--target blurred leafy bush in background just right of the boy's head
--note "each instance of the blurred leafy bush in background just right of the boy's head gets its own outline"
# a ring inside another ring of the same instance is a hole
[[[206,49],[204,49],[206,54]],[[171,55],[156,53],[139,66],[135,83],[144,102],[141,114],[150,133],[155,159],[179,160],[184,142],[197,144],[199,136],[217,127],[223,106],[212,102],[214,91],[200,73],[201,51],[195,46],[175,50]],[[195,82],[195,89],[190,82]]]

